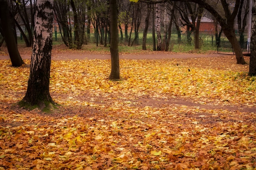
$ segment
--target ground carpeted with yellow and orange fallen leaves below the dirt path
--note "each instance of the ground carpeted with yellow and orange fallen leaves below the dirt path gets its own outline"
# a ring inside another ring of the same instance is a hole
[[[248,61],[248,57],[246,58]],[[234,56],[52,61],[54,114],[13,104],[29,60],[0,60],[0,169],[256,170],[256,77]]]

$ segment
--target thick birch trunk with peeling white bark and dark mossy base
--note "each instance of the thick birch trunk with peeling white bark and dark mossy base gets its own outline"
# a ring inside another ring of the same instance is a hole
[[[34,45],[27,93],[20,106],[37,106],[47,111],[56,105],[49,93],[52,53],[53,0],[37,0]]]

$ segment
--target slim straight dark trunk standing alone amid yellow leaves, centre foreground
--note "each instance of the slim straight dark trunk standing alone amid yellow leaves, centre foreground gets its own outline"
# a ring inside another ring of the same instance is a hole
[[[114,79],[120,79],[117,0],[110,0],[109,8],[110,8],[110,54],[111,54],[111,73],[110,73],[109,79],[114,80]]]

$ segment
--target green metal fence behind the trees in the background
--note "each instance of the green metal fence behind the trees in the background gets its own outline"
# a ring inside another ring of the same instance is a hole
[[[89,43],[95,43],[96,42],[96,38],[99,36],[96,36],[94,34],[94,29],[91,29],[90,31],[90,35],[85,34],[85,38],[86,41]],[[123,30],[124,32],[124,30]],[[215,37],[215,31],[203,31],[200,32],[200,46],[212,46],[213,49],[218,49],[218,51],[225,51],[225,52],[233,52],[233,48],[230,44],[230,42],[227,40],[226,36],[224,35],[224,33],[221,34],[220,39],[218,40],[218,38]],[[18,33],[17,31],[17,35],[18,35],[18,40],[22,40],[22,36],[20,33]],[[119,43],[120,44],[128,44],[128,40],[126,40],[125,35],[123,35],[123,39],[121,39],[121,33],[119,32]],[[164,40],[165,37],[165,33],[162,32],[161,34],[162,36],[162,40]],[[73,36],[74,38],[74,33]],[[130,32],[128,31],[128,37],[130,37],[130,44],[132,44],[132,41],[135,39],[135,33],[134,31],[130,34]],[[147,40],[146,40],[146,45],[153,45],[153,38],[152,38],[152,31],[148,30],[148,34],[147,34]],[[244,35],[245,40],[247,40],[247,34],[245,33]],[[155,38],[157,38],[157,35],[155,34]],[[237,33],[237,38],[239,41],[239,35]],[[104,38],[103,38],[104,39]],[[174,44],[184,44],[184,45],[194,45],[194,34],[191,33],[190,38],[188,38],[187,33],[186,32],[180,32],[180,38],[178,38],[178,33],[176,30],[172,31],[171,34],[171,41],[170,41],[170,46],[173,46]],[[54,42],[62,42],[62,38],[61,38],[61,33],[59,31],[59,28],[54,27],[53,29],[53,41]],[[143,41],[143,29],[141,29],[138,33],[137,33],[137,38],[134,41],[133,45],[142,45],[142,41]],[[109,42],[109,37],[107,42]],[[247,42],[241,42],[240,43],[243,51],[248,51],[249,49],[249,45],[247,44]]]

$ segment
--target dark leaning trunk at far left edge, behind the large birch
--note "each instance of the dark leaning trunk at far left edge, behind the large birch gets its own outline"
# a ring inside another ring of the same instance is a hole
[[[2,23],[2,32],[4,33],[4,40],[7,44],[8,53],[11,59],[12,66],[18,67],[24,64],[14,37],[13,29],[11,29],[10,13],[7,1],[0,1],[0,20]]]

